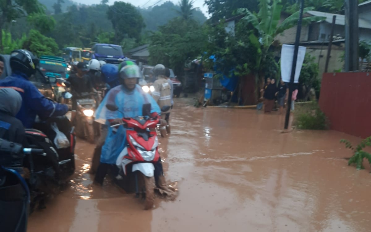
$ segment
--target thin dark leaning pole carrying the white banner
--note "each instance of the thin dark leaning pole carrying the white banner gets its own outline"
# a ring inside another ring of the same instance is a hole
[[[303,19],[303,9],[304,9],[304,0],[301,0],[298,27],[296,29],[294,57],[292,59],[291,78],[290,78],[290,84],[289,84],[289,97],[288,97],[288,102],[287,102],[287,111],[286,111],[286,118],[285,118],[285,129],[287,129],[289,127],[290,110],[291,110],[291,97],[292,97],[292,91],[293,91],[293,87],[294,87],[296,60],[298,60],[301,24],[302,24],[302,19]]]

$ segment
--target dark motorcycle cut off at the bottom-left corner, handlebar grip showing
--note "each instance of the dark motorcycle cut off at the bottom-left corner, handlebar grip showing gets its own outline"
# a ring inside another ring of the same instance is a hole
[[[0,139],[0,228],[1,231],[26,232],[30,208],[29,179],[24,179],[25,155],[43,155],[42,149],[23,148],[22,145]],[[32,162],[30,176],[34,176]]]

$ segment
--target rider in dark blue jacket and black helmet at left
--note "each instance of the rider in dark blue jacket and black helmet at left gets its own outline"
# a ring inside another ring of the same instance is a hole
[[[12,75],[0,80],[0,88],[13,88],[22,97],[22,106],[16,115],[25,128],[32,128],[39,115],[40,119],[65,115],[69,108],[46,99],[29,78],[36,73],[39,59],[30,51],[18,49],[10,54]]]

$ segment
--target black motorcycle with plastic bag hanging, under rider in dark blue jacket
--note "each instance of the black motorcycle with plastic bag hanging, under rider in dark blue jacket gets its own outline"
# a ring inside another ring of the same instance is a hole
[[[68,92],[63,96],[72,97]],[[29,179],[33,209],[37,204],[42,207],[45,198],[63,186],[75,172],[76,136],[66,115],[46,121],[36,120],[34,128],[25,131],[29,147],[45,151],[45,155],[28,161],[33,167],[25,167],[27,173],[35,173]]]

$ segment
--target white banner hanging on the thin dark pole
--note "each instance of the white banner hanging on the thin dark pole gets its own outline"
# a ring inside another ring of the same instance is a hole
[[[299,82],[299,75],[303,66],[306,47],[299,46],[298,59],[296,60],[295,80],[294,83]],[[282,44],[281,50],[281,77],[286,83],[290,82],[292,59],[294,58],[294,46],[289,44]]]

